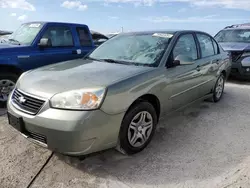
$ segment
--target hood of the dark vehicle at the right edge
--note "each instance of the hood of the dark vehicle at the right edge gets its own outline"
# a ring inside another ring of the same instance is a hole
[[[221,42],[220,45],[225,51],[250,51],[250,43]]]

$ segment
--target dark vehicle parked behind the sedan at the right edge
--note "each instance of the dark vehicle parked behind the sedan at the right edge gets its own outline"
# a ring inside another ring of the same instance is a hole
[[[215,39],[231,54],[231,76],[250,78],[250,23],[227,26]]]

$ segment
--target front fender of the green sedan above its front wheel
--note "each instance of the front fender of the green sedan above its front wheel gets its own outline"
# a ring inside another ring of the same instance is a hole
[[[150,71],[125,79],[108,87],[101,110],[107,114],[126,112],[134,101],[146,94],[155,95],[161,100],[166,97],[161,92],[165,85],[161,71]]]

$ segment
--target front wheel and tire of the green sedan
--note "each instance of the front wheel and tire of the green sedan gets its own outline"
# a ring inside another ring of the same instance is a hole
[[[141,118],[145,120],[141,121],[143,124],[139,123]],[[128,155],[142,151],[150,143],[156,124],[157,114],[152,104],[145,101],[135,104],[123,118],[117,149]]]

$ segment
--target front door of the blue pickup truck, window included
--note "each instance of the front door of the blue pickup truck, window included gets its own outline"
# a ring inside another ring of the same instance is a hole
[[[49,26],[41,38],[50,39],[52,45],[46,48],[37,45],[31,54],[20,57],[19,63],[26,70],[81,57],[81,50],[74,45],[70,27]]]

